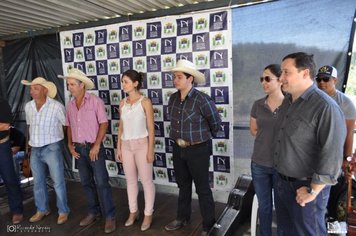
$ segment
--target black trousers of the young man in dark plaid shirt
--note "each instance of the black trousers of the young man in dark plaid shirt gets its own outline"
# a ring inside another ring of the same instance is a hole
[[[181,148],[173,145],[173,166],[179,188],[178,220],[190,220],[192,181],[199,198],[203,230],[208,231],[215,223],[215,204],[209,185],[209,142]]]

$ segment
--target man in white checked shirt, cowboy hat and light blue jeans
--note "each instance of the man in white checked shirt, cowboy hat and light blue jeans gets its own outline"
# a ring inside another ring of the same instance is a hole
[[[62,154],[65,109],[60,102],[53,99],[57,94],[54,83],[42,77],[37,77],[32,82],[22,80],[21,83],[31,86],[30,94],[33,98],[25,106],[28,145],[32,147],[30,162],[34,181],[33,193],[37,208],[30,222],[40,221],[50,213],[46,184],[47,166],[57,196],[57,224],[63,224],[68,220],[69,214]]]

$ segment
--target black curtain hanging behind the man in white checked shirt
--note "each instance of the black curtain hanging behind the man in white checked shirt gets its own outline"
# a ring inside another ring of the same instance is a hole
[[[14,122],[19,130],[26,131],[25,104],[31,100],[30,87],[21,80],[32,81],[44,77],[57,86],[56,99],[64,104],[64,83],[57,75],[62,75],[60,42],[58,35],[46,35],[6,42],[3,50],[5,85],[7,99],[12,107]],[[71,155],[64,140],[65,176],[74,178]]]

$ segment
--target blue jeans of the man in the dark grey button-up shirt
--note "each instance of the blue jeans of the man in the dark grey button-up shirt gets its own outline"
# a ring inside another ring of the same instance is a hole
[[[312,201],[301,207],[296,202],[296,191],[302,186],[310,186],[310,181],[286,181],[276,174],[274,193],[277,214],[278,235],[327,235],[326,206],[329,199],[330,185],[318,194]]]

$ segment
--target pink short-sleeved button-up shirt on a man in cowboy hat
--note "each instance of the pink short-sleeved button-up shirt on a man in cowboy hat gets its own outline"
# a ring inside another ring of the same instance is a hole
[[[108,122],[105,106],[101,98],[85,93],[83,102],[77,108],[75,99],[67,105],[66,126],[72,130],[74,143],[94,143],[99,131],[99,124]]]

